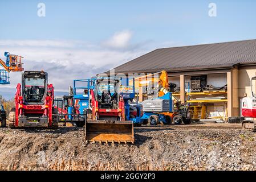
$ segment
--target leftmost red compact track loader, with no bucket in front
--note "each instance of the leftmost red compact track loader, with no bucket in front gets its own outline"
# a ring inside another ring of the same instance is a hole
[[[25,71],[17,85],[15,107],[9,114],[9,127],[58,127],[54,108],[54,87],[44,71]]]

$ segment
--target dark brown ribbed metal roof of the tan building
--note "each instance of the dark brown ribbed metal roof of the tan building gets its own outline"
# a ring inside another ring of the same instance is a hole
[[[256,39],[160,48],[115,68],[115,73],[193,71],[256,64]]]

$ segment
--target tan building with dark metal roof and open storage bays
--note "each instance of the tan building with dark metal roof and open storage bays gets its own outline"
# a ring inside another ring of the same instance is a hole
[[[241,98],[251,96],[250,79],[256,75],[256,39],[197,46],[161,48],[115,68],[115,73],[155,73],[165,70],[169,82],[180,87],[173,93],[200,118],[237,117],[241,115]],[[221,92],[193,93],[191,77],[207,76],[207,84],[227,85]],[[255,88],[253,88],[255,90]],[[208,100],[209,98],[209,100]],[[216,98],[216,99],[214,99]],[[223,108],[223,109],[222,109]]]

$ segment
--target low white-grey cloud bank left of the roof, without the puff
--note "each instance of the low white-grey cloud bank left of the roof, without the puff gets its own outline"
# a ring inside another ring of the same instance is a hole
[[[72,42],[70,43],[72,44]],[[143,50],[116,51],[96,46],[95,49],[90,50],[87,48],[67,49],[63,46],[32,47],[24,46],[25,44],[23,46],[1,45],[1,59],[5,60],[3,56],[5,51],[23,56],[25,70],[48,72],[49,82],[54,84],[55,90],[58,91],[68,90],[68,86],[72,86],[72,81],[75,79],[96,76],[97,73],[108,71],[145,53]],[[11,84],[1,85],[1,88],[15,87],[21,81],[21,73],[19,72],[11,72],[9,76]]]

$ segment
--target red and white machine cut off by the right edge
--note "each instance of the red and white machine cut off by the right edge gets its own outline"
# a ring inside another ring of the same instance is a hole
[[[242,99],[242,115],[246,118],[242,122],[243,130],[256,131],[256,121],[254,119],[256,118],[256,94],[253,92],[253,82],[255,80],[256,76],[251,78],[251,97]]]

